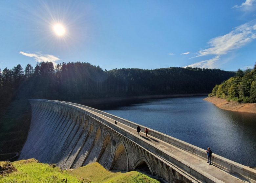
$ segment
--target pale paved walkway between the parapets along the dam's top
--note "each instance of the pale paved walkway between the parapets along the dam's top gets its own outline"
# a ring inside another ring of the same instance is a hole
[[[86,108],[83,108],[83,107],[80,107],[80,106],[76,106],[76,105],[73,105],[73,104],[69,104],[69,105],[72,105],[72,106],[75,106],[75,107],[78,107],[78,108],[81,108],[83,110],[86,110],[110,123],[115,123],[115,120],[107,117],[107,116],[104,116],[102,114],[99,114],[97,112],[94,112],[92,110],[89,110],[89,109],[86,109]],[[122,123],[119,123],[117,121],[117,126],[120,126],[130,132],[132,132],[135,136],[138,136],[139,138],[141,138],[143,141],[150,141],[151,143],[155,144],[157,147],[160,147],[170,153],[172,153],[173,155],[175,155],[176,157],[194,165],[195,167],[197,167],[199,169],[199,171],[204,171],[210,175],[212,175],[213,177],[223,181],[223,182],[226,182],[226,183],[241,183],[241,182],[248,182],[247,180],[245,180],[244,178],[242,177],[238,177],[236,175],[232,175],[230,174],[229,172],[226,172],[224,170],[222,170],[221,168],[217,167],[217,166],[214,166],[214,165],[209,165],[209,163],[206,163],[206,160],[204,158],[200,158],[196,155],[193,155],[192,153],[189,153],[187,151],[184,151],[178,147],[175,147],[169,143],[166,143],[164,141],[161,141],[160,139],[157,139],[155,137],[150,137],[150,131],[148,133],[148,137],[146,137],[146,134],[145,133],[141,133],[140,132],[140,135],[138,135],[137,133],[137,129],[134,129],[130,126],[127,126],[127,125],[124,125]]]

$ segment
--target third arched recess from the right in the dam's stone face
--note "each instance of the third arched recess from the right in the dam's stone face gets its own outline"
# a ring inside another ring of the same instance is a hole
[[[111,165],[111,152],[112,152],[111,137],[110,137],[110,134],[108,133],[104,138],[104,141],[102,143],[102,147],[100,150],[100,154],[97,159],[97,162],[106,169],[109,169]]]

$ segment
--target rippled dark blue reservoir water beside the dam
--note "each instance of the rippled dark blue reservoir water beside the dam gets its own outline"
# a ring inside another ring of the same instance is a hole
[[[255,167],[256,114],[223,110],[205,97],[147,100],[103,111]]]

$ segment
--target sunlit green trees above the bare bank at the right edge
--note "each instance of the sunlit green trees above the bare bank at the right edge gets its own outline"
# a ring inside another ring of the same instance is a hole
[[[215,85],[208,96],[216,96],[238,102],[256,103],[256,63],[252,70],[247,69],[243,72],[238,69],[234,77]]]

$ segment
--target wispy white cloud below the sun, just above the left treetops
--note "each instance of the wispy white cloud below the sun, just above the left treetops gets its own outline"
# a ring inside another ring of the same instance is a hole
[[[53,62],[54,65],[56,65],[56,61],[60,60],[58,57],[49,54],[43,55],[41,53],[24,53],[22,51],[19,53],[27,57],[32,57],[37,62]]]

